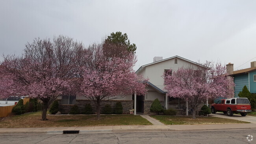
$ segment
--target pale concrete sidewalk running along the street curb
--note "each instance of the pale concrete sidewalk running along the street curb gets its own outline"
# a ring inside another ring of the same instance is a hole
[[[63,134],[63,131],[79,133],[112,133],[135,131],[191,131],[221,129],[252,129],[256,124],[212,124],[212,125],[165,125],[165,126],[88,126],[88,127],[38,127],[38,128],[0,128],[0,133],[46,133]]]

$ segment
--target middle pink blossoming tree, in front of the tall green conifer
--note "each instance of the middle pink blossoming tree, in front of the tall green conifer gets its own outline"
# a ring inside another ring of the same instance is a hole
[[[135,55],[123,51],[120,55],[106,55],[106,47],[93,44],[87,49],[87,61],[82,67],[82,96],[91,100],[96,106],[97,118],[100,118],[100,102],[123,98],[137,92],[144,94],[145,83],[142,76],[137,76],[132,69]]]

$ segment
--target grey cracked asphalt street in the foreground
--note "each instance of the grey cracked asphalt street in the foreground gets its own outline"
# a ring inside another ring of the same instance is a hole
[[[249,142],[248,135],[255,138]],[[6,133],[0,135],[0,144],[256,144],[256,129],[60,135]]]

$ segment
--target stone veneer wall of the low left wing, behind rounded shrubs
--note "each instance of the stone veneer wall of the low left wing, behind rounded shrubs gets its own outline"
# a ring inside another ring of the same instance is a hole
[[[59,102],[59,108],[60,108],[60,112],[62,114],[69,114],[70,109],[73,105],[61,105],[61,100],[58,100]],[[129,114],[129,109],[133,109],[133,101],[132,100],[120,100],[120,101],[116,101],[116,100],[108,100],[108,101],[102,101],[100,102],[100,113],[103,112],[103,109],[105,107],[106,104],[111,105],[113,111],[115,109],[115,105],[117,102],[121,102],[122,103],[122,107],[123,107],[123,114]],[[83,108],[85,106],[86,103],[90,103],[91,106],[93,107],[93,113],[96,113],[96,107],[94,105],[93,102],[90,102],[89,100],[76,100],[76,105],[78,105],[78,108],[80,110],[80,113],[83,111]]]

